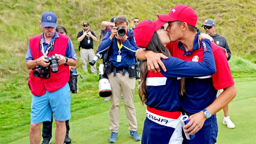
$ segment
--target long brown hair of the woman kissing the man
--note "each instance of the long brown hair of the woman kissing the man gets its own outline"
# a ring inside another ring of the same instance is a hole
[[[169,50],[162,44],[156,32],[153,34],[153,37],[151,38],[148,46],[146,47],[146,50],[151,50],[156,53],[162,53],[166,57],[171,57]],[[143,61],[142,64],[140,65],[141,82],[138,90],[138,94],[140,97],[140,101],[142,102],[142,105],[146,103],[146,99],[148,98],[147,86],[146,86],[147,75],[148,75],[147,62]],[[184,92],[185,92],[185,78],[181,78],[180,95],[183,95]]]

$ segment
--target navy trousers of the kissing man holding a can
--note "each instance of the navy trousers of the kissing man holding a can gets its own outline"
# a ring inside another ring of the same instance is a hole
[[[188,116],[190,114],[187,113]],[[183,130],[182,130],[183,131]],[[213,114],[210,118],[204,121],[203,127],[195,134],[195,137],[188,140],[182,132],[183,143],[182,144],[214,144],[217,142],[218,124],[216,114]]]

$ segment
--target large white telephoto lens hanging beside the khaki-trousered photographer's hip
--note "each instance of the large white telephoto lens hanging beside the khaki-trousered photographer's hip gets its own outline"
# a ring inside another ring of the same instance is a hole
[[[100,97],[108,97],[112,95],[111,85],[107,78],[107,74],[104,74],[103,69],[104,69],[104,64],[100,64],[98,89],[99,89]]]

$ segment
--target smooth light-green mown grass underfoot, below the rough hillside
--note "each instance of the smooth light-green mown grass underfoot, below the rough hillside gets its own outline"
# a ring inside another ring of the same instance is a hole
[[[256,78],[241,78],[235,79],[235,85],[237,89],[237,95],[233,101],[229,103],[229,115],[231,120],[235,123],[234,129],[229,129],[222,123],[223,110],[217,113],[218,118],[218,138],[217,144],[252,144],[256,143],[256,119],[255,119],[255,103],[256,103]],[[142,135],[143,123],[145,119],[145,106],[141,106],[138,101],[138,95],[135,98],[135,107],[138,121],[138,133]],[[123,102],[121,102],[120,112],[120,128],[116,144],[140,144],[141,142],[134,142],[129,137],[128,122],[125,116],[125,110]],[[70,119],[70,138],[73,144],[108,144],[108,138],[110,136],[109,126],[109,114],[108,108],[110,102],[103,102],[100,105],[84,108],[79,111],[72,112],[71,115],[84,114],[84,118],[80,118],[76,121]],[[102,110],[100,113],[86,116],[88,111]],[[53,124],[55,127],[55,124]],[[55,128],[53,129],[53,135]],[[27,144],[29,138],[24,137],[9,144]],[[52,138],[52,144],[55,144],[54,136]]]

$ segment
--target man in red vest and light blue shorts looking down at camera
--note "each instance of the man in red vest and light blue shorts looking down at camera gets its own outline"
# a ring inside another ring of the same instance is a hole
[[[77,57],[71,39],[55,31],[57,24],[53,12],[44,12],[39,21],[43,33],[29,39],[26,67],[32,69],[28,78],[32,93],[31,144],[40,143],[40,126],[51,121],[52,113],[56,121],[56,144],[63,144],[65,121],[71,118],[69,65],[76,66]]]

